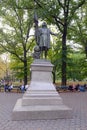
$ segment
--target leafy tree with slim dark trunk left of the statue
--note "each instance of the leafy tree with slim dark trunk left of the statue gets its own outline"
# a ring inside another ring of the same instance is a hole
[[[28,53],[34,45],[31,37],[33,26],[32,2],[15,0],[0,1],[2,27],[0,28],[0,46],[16,56],[23,63],[24,83],[27,84]],[[19,6],[20,5],[20,6]],[[30,8],[24,8],[28,5]],[[23,7],[24,6],[24,7]]]

